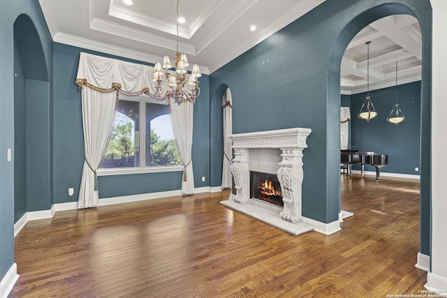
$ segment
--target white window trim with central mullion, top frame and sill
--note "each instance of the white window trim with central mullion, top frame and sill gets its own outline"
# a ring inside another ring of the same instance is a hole
[[[168,102],[154,100],[149,98],[149,96],[125,96],[124,94],[119,94],[119,99],[130,100],[140,102],[140,137],[138,142],[144,144],[143,136],[146,133],[146,117],[145,109],[146,105],[141,105],[142,103],[158,103],[161,105],[168,105]],[[146,173],[162,173],[162,172],[182,172],[184,170],[183,165],[157,165],[157,166],[142,166],[141,161],[146,161],[145,158],[146,148],[140,145],[140,167],[104,167],[96,170],[98,176],[114,176],[114,175],[126,175],[126,174],[146,174]]]

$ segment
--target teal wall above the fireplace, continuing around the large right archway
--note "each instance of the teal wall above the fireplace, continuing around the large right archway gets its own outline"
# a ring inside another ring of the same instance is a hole
[[[346,46],[374,20],[406,13],[418,18],[423,34],[421,218],[430,222],[431,11],[429,0],[325,1],[212,73],[211,94],[221,84],[232,91],[233,133],[312,128],[303,158],[303,216],[323,223],[338,218],[340,64]],[[212,119],[217,112],[212,110]],[[421,252],[429,255],[430,230],[424,227],[421,234]]]

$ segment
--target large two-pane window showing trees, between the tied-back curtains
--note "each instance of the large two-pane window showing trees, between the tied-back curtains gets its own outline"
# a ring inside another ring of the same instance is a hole
[[[115,124],[100,168],[129,170],[175,165],[182,165],[182,161],[168,103],[147,96],[120,94]]]

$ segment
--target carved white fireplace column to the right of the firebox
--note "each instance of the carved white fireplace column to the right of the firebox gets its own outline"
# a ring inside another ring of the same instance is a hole
[[[284,209],[279,214],[285,221],[301,221],[302,149],[281,149],[282,161],[278,170]]]

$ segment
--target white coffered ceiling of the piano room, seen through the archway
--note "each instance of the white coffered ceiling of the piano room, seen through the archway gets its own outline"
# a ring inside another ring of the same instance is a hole
[[[410,15],[383,17],[362,29],[349,43],[342,59],[342,94],[367,89],[367,41],[369,89],[381,89],[420,80],[422,36],[418,20]]]

